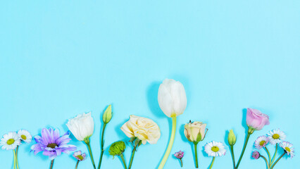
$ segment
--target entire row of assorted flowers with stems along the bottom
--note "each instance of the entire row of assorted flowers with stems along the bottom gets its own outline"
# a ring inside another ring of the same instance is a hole
[[[164,80],[163,83],[160,85],[158,89],[158,104],[161,107],[161,110],[165,115],[169,118],[172,118],[172,131],[170,135],[170,140],[163,155],[161,163],[159,163],[158,168],[164,168],[168,157],[170,156],[170,152],[172,151],[173,142],[175,139],[176,133],[176,119],[178,115],[184,113],[185,108],[187,106],[187,96],[185,94],[185,88],[183,85],[175,80]],[[100,142],[100,158],[98,163],[98,169],[101,168],[102,158],[104,156],[104,132],[106,129],[106,125],[111,121],[113,117],[113,113],[111,110],[111,105],[106,108],[103,113],[102,121],[103,127],[101,130],[101,142]],[[249,141],[249,137],[253,134],[256,130],[262,130],[264,125],[269,125],[269,117],[261,111],[258,111],[253,108],[248,108],[246,112],[246,125],[249,127],[246,139],[244,142],[244,146],[242,149],[242,153],[239,156],[239,160],[237,164],[235,163],[235,153],[234,153],[234,146],[237,142],[235,137],[235,133],[233,130],[230,130],[227,140],[228,144],[230,145],[230,153],[232,155],[232,165],[234,169],[239,168],[239,164],[242,161],[242,157],[244,155],[244,151],[246,150],[247,143]],[[87,151],[89,152],[89,157],[91,159],[93,168],[96,169],[96,164],[94,162],[93,154],[92,154],[92,147],[90,146],[90,137],[94,133],[94,119],[92,118],[91,113],[82,113],[77,115],[75,118],[71,118],[68,120],[66,124],[69,131],[65,132],[62,136],[58,129],[42,129],[40,135],[34,137],[36,144],[31,146],[33,153],[36,155],[39,152],[42,152],[44,156],[49,156],[51,160],[50,168],[54,167],[54,159],[58,156],[61,156],[62,153],[70,153],[70,151],[75,151],[73,156],[77,159],[77,163],[75,168],[77,168],[80,161],[84,161],[86,159],[86,154],[82,153],[82,151],[76,151],[77,147],[71,144],[70,142],[70,133],[74,135],[74,137],[78,140],[83,142],[87,145]],[[137,115],[130,115],[130,119],[120,128],[127,137],[129,137],[130,144],[132,145],[132,155],[130,157],[129,165],[126,164],[123,152],[126,149],[126,144],[123,141],[114,142],[108,149],[109,154],[111,156],[119,156],[121,162],[123,163],[123,167],[125,169],[132,168],[132,162],[135,156],[135,153],[139,146],[146,144],[156,144],[158,139],[161,137],[161,131],[158,125],[149,118],[139,117]],[[206,132],[208,129],[206,128],[206,124],[201,123],[199,121],[189,121],[185,125],[185,137],[187,140],[194,144],[194,162],[195,168],[199,168],[198,164],[198,156],[197,156],[197,145],[199,142],[204,141]],[[285,142],[285,133],[280,130],[272,130],[267,135],[258,137],[255,141],[256,149],[265,149],[266,153],[268,154],[268,160],[258,151],[254,151],[252,157],[255,159],[263,158],[266,163],[268,169],[273,169],[275,164],[282,158],[282,156],[294,156],[294,148],[292,144],[289,142]],[[30,132],[27,130],[19,130],[18,132],[8,132],[8,134],[4,134],[3,138],[1,138],[0,146],[2,149],[6,150],[13,150],[13,168],[19,169],[18,164],[18,148],[22,143],[29,143],[32,141],[32,136]],[[275,145],[275,153],[273,158],[270,156],[270,151],[268,151],[267,145],[273,144]],[[280,146],[283,150],[283,154],[277,158],[278,153],[278,146]],[[208,156],[212,156],[213,159],[211,164],[208,168],[213,167],[213,163],[215,161],[216,156],[224,156],[226,153],[225,145],[222,142],[208,142],[204,146],[204,151],[208,154]],[[180,160],[180,164],[182,167],[182,158],[184,157],[183,151],[178,151],[174,154],[176,158]]]

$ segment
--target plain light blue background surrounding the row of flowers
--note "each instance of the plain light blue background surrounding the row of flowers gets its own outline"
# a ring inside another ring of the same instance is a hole
[[[37,135],[43,127],[58,127],[63,134],[68,118],[92,111],[98,162],[102,111],[113,104],[105,147],[128,140],[120,126],[130,114],[151,118],[161,127],[161,139],[140,146],[132,168],[156,168],[170,134],[170,119],[157,102],[158,86],[168,77],[180,80],[187,92],[172,150],[185,151],[184,168],[194,168],[185,123],[208,124],[199,144],[200,168],[207,168],[212,158],[202,146],[225,142],[230,129],[237,134],[238,158],[247,107],[270,115],[270,125],[251,136],[240,168],[265,168],[262,159],[250,158],[253,142],[278,127],[296,156],[275,168],[295,168],[300,164],[299,8],[297,0],[1,1],[0,134],[26,129]],[[87,152],[74,137],[71,143]],[[30,153],[32,144],[20,146],[20,167],[48,168],[48,158]],[[131,149],[128,144],[127,163]],[[226,149],[213,168],[232,168]],[[1,168],[12,168],[11,151],[1,150],[0,159]],[[75,168],[75,163],[63,154],[54,168]],[[102,167],[122,165],[106,151]],[[79,168],[92,168],[89,158]],[[180,164],[170,156],[165,168]]]

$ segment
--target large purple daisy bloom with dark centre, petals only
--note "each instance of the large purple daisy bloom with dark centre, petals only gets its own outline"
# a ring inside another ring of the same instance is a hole
[[[52,128],[42,130],[42,137],[36,136],[35,142],[37,144],[31,146],[31,151],[35,153],[39,153],[43,151],[44,156],[49,156],[51,160],[56,158],[56,156],[60,156],[61,153],[69,153],[69,151],[75,151],[76,146],[68,144],[70,142],[70,131],[63,134],[63,136],[59,136],[59,130],[53,130]]]

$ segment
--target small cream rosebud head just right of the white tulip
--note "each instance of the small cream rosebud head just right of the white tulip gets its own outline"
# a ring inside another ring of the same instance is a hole
[[[193,122],[185,124],[185,137],[189,142],[200,142],[205,137],[206,124],[202,122]]]

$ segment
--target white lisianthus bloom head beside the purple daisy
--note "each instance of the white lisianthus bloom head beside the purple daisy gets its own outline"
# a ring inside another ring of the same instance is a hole
[[[69,119],[67,126],[78,141],[85,141],[94,133],[94,119],[91,112]]]

